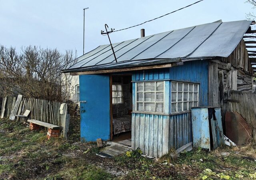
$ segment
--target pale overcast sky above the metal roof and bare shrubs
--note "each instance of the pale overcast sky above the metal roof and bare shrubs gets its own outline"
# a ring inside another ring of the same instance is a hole
[[[109,44],[102,36],[104,24],[116,30],[140,24],[192,4],[197,0],[0,0],[0,44],[16,47],[36,45],[42,48],[77,50],[83,53],[83,8],[86,10],[85,52]],[[185,28],[198,24],[246,19],[253,12],[245,0],[204,0],[142,26],[110,34],[112,43]]]

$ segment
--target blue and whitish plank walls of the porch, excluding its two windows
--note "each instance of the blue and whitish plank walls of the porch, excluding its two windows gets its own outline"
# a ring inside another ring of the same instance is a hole
[[[192,142],[191,112],[172,113],[172,82],[199,84],[199,106],[208,106],[208,61],[184,62],[183,66],[159,70],[137,71],[132,74],[133,113],[132,148],[160,157],[170,148]],[[164,113],[136,111],[136,82],[164,81]]]

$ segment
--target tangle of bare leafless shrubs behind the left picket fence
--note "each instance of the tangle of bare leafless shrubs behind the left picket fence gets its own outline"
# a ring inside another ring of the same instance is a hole
[[[25,97],[62,100],[60,70],[74,62],[76,52],[37,46],[15,48],[0,46],[0,96],[22,94]],[[64,98],[66,99],[66,98]]]

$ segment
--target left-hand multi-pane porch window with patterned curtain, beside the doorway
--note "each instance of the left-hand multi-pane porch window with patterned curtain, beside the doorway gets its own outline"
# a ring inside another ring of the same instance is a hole
[[[164,112],[164,81],[136,83],[136,111]]]

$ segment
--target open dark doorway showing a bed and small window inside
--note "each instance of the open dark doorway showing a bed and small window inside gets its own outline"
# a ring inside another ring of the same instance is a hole
[[[132,76],[112,76],[112,142],[131,146]],[[110,128],[111,129],[111,128]]]

